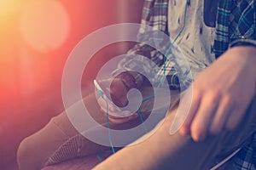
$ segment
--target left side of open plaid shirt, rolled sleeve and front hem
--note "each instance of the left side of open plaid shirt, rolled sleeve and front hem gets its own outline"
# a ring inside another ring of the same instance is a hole
[[[168,83],[161,83],[162,86],[172,89],[189,86],[192,81],[188,77],[189,69],[184,66],[183,58],[177,57],[181,54],[168,36],[167,14],[168,0],[145,0],[137,44],[120,60],[114,75],[137,71],[137,75],[147,77],[153,86],[158,86],[164,78]]]

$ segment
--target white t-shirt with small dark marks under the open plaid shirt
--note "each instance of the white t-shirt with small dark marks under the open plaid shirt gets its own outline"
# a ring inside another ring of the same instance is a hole
[[[169,0],[168,31],[172,40],[177,37],[183,27],[185,5],[185,0]],[[176,41],[189,62],[194,78],[215,60],[212,52],[215,29],[205,25],[203,7],[204,1],[189,0],[186,23]]]

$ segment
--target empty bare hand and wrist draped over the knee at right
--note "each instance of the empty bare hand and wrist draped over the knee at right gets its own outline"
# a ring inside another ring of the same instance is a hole
[[[230,48],[195,78],[188,116],[180,129],[195,141],[234,129],[255,95],[256,48]]]

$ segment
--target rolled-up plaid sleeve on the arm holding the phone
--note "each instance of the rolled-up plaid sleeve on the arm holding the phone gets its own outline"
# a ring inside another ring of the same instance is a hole
[[[124,59],[120,60],[117,70],[113,71],[113,75],[122,71],[137,71],[136,77],[143,75],[152,83],[159,82],[156,75],[159,72],[159,67],[164,64],[164,54],[161,54],[150,44],[155,42],[153,31],[167,33],[167,4],[167,0],[145,0],[141,26],[137,34],[137,44],[127,52]],[[155,8],[156,5],[160,5],[162,8]],[[150,26],[152,30],[148,30],[147,26]]]

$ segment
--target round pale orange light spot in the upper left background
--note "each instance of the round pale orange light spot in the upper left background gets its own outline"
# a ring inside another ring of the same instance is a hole
[[[49,52],[67,39],[70,20],[66,8],[57,0],[30,1],[21,13],[19,29],[29,46]]]

